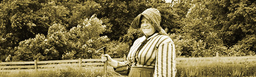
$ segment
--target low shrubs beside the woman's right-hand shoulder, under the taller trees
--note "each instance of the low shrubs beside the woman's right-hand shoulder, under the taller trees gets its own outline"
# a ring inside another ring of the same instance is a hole
[[[169,35],[175,44],[177,56],[186,57],[204,57],[204,56],[216,56],[216,52],[221,55],[226,55],[227,48],[223,44],[207,43],[203,40],[196,40],[189,36],[181,34],[170,34]]]

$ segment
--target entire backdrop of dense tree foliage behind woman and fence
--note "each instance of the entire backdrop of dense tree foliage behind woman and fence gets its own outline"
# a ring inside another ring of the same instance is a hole
[[[127,54],[143,34],[130,27],[143,10],[161,13],[179,56],[256,53],[254,0],[1,0],[0,61],[97,58],[103,46]],[[94,15],[95,14],[95,15]],[[87,19],[88,18],[88,19]],[[128,47],[129,46],[129,47]]]

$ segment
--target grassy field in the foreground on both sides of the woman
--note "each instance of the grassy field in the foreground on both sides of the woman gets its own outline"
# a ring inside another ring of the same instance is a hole
[[[176,77],[256,77],[256,56],[191,57],[176,59]],[[103,67],[72,67],[11,70],[0,77],[102,77]],[[108,68],[109,77],[123,77]]]

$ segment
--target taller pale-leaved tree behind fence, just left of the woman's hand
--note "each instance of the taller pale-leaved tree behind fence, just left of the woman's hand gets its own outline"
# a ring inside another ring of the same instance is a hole
[[[92,15],[77,27],[71,28],[67,35],[71,46],[64,52],[62,59],[71,59],[71,56],[72,58],[99,58],[102,52],[96,50],[109,41],[107,36],[100,36],[106,30],[106,26],[102,23],[96,15]]]

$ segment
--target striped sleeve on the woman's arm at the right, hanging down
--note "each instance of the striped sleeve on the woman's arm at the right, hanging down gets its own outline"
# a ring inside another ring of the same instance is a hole
[[[175,46],[170,38],[164,39],[156,53],[154,77],[175,77]]]

